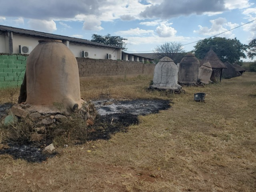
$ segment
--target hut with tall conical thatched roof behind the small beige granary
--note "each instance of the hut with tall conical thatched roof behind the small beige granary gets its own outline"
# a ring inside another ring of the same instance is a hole
[[[222,69],[226,69],[227,67],[224,63],[222,63],[222,61],[212,49],[206,53],[206,56],[204,56],[204,59],[200,62],[200,65],[203,65],[207,62],[211,64],[213,70],[211,80],[214,82],[221,81]]]

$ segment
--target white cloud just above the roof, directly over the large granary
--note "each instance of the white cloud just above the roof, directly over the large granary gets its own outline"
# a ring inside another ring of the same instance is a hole
[[[56,23],[53,20],[30,19],[28,24],[33,30],[52,33],[57,30]]]

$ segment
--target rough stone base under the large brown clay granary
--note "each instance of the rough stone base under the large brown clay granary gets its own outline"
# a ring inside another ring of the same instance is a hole
[[[53,106],[32,106],[26,102],[15,104],[10,109],[10,113],[14,117],[18,117],[18,122],[24,122],[28,125],[31,141],[40,141],[45,139],[45,133],[49,129],[59,127],[58,125],[64,125],[69,119],[82,119],[86,126],[93,125],[95,117],[97,116],[97,110],[94,103],[83,102],[80,109],[75,112],[68,112],[65,108],[62,108],[61,103],[54,103]],[[32,129],[31,129],[32,128]],[[55,131],[60,131],[57,128]]]

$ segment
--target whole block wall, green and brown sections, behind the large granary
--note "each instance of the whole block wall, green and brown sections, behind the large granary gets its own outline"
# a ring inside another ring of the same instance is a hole
[[[0,53],[0,89],[22,84],[28,55]],[[137,61],[76,58],[80,77],[153,75],[155,64]]]

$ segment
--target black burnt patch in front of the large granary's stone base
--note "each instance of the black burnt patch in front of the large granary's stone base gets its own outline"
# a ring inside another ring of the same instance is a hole
[[[10,148],[5,148],[0,150],[1,154],[12,155],[14,159],[24,159],[27,162],[42,162],[46,161],[49,156],[43,155],[40,147],[35,147],[32,145],[18,145],[9,144]]]

